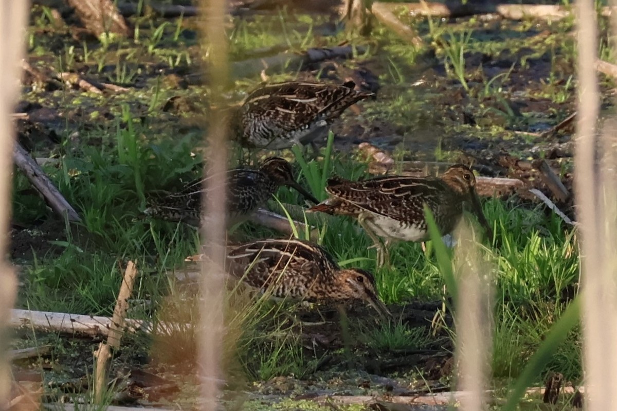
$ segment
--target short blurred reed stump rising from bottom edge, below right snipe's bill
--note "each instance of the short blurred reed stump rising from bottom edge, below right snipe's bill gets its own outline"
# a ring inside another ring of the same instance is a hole
[[[471,226],[457,228],[455,251],[458,298],[455,311],[458,389],[463,411],[487,409],[487,375],[491,363],[492,278],[491,267],[482,260]]]

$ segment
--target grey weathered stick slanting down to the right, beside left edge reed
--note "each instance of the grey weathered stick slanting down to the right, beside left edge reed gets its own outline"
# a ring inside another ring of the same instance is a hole
[[[39,193],[46,199],[51,208],[62,217],[68,218],[71,222],[80,222],[81,218],[77,211],[68,204],[66,199],[60,194],[54,183],[49,180],[48,176],[43,172],[43,169],[36,164],[32,157],[20,146],[15,143],[13,150],[13,161],[15,165],[28,177],[30,183],[38,190]]]

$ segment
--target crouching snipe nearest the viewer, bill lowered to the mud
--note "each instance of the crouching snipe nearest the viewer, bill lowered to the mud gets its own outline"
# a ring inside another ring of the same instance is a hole
[[[377,296],[375,278],[341,268],[322,247],[299,239],[260,239],[228,252],[228,271],[271,297],[310,302],[362,300],[391,317]]]

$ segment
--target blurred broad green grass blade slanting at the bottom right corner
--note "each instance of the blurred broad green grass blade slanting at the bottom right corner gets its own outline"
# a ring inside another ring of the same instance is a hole
[[[531,356],[529,362],[525,366],[523,372],[518,377],[513,385],[510,395],[502,411],[514,411],[518,407],[521,398],[525,394],[526,389],[534,382],[536,376],[542,372],[542,369],[551,359],[555,348],[565,341],[569,331],[571,331],[579,322],[581,315],[581,294],[579,294],[568,305],[561,314],[561,318],[550,328],[542,345],[538,347],[534,355]]]

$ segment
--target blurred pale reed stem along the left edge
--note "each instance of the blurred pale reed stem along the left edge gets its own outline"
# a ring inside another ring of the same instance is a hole
[[[11,173],[15,128],[11,118],[19,99],[22,59],[30,1],[0,2],[0,401],[7,408],[10,395],[10,366],[6,358],[9,343],[7,320],[17,293],[17,279],[5,255],[8,252],[11,210]]]

